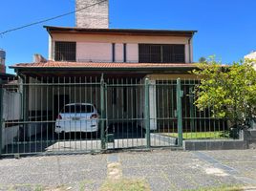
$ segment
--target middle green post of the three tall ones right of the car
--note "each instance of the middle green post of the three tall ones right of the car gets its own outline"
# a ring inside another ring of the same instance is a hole
[[[147,148],[150,148],[150,116],[149,116],[149,79],[145,79],[145,105],[144,105],[144,123],[146,127]]]

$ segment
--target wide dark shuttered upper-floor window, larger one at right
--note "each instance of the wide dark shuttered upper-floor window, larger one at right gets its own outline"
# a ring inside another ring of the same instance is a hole
[[[184,45],[139,44],[140,63],[179,63],[184,57]]]

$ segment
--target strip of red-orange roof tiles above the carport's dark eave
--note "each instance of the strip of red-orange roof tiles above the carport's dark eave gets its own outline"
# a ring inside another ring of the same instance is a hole
[[[171,69],[171,68],[195,68],[192,63],[100,63],[100,62],[57,62],[45,63],[20,63],[10,68],[81,68],[81,69]]]

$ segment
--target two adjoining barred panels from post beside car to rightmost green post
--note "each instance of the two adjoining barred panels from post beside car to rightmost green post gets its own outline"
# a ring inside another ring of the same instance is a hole
[[[106,148],[181,146],[182,137],[177,136],[182,135],[181,97],[180,79],[171,83],[148,78],[107,80]],[[171,105],[168,112],[161,107],[166,103]]]

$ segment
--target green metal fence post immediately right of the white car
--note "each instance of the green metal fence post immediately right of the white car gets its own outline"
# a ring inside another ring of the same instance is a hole
[[[101,149],[106,148],[105,140],[105,83],[103,74],[100,79],[100,139],[101,139]]]

